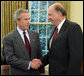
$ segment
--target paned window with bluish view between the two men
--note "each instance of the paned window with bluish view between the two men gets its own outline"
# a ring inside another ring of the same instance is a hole
[[[42,55],[47,54],[47,42],[54,29],[48,21],[48,7],[56,1],[29,1],[30,29],[39,33]]]

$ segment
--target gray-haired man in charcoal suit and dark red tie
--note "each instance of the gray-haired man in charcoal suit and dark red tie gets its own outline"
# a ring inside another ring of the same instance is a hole
[[[38,33],[29,30],[30,15],[28,10],[18,9],[14,14],[14,20],[17,28],[3,39],[6,61],[10,65],[9,74],[39,75],[40,72],[44,72],[44,68],[36,70],[35,65],[37,64],[33,62],[33,59],[41,58],[42,51]],[[39,64],[41,65],[40,62]]]

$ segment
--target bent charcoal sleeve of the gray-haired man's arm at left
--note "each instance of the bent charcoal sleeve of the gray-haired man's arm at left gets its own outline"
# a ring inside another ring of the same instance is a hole
[[[9,65],[22,70],[28,70],[29,61],[18,58],[15,55],[12,38],[7,36],[3,39],[3,51],[5,53],[6,61]]]

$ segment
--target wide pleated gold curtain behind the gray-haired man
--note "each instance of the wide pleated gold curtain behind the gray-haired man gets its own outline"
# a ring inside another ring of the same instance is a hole
[[[26,1],[1,1],[1,47],[4,36],[16,28],[13,15],[19,8],[26,9]]]

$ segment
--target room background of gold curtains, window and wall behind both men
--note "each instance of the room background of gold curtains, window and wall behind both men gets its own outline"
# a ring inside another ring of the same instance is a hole
[[[1,1],[1,56],[3,38],[16,28],[13,15],[19,8],[29,10],[31,16],[30,30],[39,33],[42,55],[47,54],[47,41],[54,29],[47,18],[48,7],[55,2],[63,4],[67,11],[67,18],[77,22],[83,31],[83,1]]]

